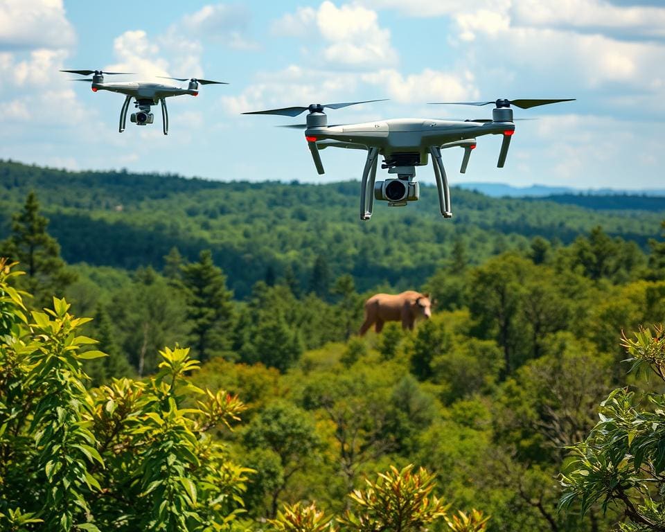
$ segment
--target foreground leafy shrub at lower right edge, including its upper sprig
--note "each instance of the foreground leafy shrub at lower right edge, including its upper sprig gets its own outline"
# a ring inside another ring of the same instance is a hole
[[[623,336],[631,371],[665,382],[663,333],[657,326]],[[623,531],[665,531],[665,393],[615,389],[599,415],[585,441],[571,447],[562,508],[579,502],[585,513],[599,501],[604,511],[611,505],[623,512]]]

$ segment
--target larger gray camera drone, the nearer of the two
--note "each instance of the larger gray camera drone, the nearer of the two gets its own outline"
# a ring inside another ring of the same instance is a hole
[[[481,135],[502,135],[501,150],[499,152],[498,168],[503,168],[508,155],[508,147],[515,132],[513,123],[513,109],[511,105],[520,109],[529,109],[538,105],[549,103],[569,102],[575,98],[558,100],[496,100],[490,102],[440,102],[454,105],[488,105],[495,103],[492,119],[475,120],[432,120],[425,118],[396,118],[378,122],[362,124],[328,125],[328,117],[323,111],[340,109],[348,105],[360,103],[380,102],[384,100],[366,100],[364,102],[315,103],[308,107],[283,107],[282,109],[269,109],[267,111],[254,111],[243,114],[278,114],[282,116],[298,116],[309,111],[307,123],[299,125],[286,125],[305,130],[307,141],[314,166],[319,174],[323,174],[323,163],[319,150],[326,148],[350,148],[352,150],[366,150],[367,159],[362,172],[360,188],[360,219],[369,220],[374,207],[374,199],[387,201],[389,206],[405,206],[407,202],[416,201],[420,197],[420,188],[416,182],[416,166],[427,165],[427,159],[432,156],[436,188],[438,190],[438,203],[441,215],[451,218],[450,189],[448,188],[445,169],[441,159],[441,150],[445,148],[463,148],[464,157],[460,172],[466,172],[471,150],[476,147],[476,137]],[[375,181],[378,156],[384,157],[381,168],[388,169],[389,174],[396,174],[396,178],[385,181]],[[369,197],[369,201],[368,201]]]

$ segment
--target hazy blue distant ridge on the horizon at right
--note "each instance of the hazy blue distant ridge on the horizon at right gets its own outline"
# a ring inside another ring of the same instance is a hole
[[[531,197],[531,196],[661,196],[665,197],[665,188],[647,188],[644,190],[622,190],[616,188],[572,188],[569,186],[512,186],[503,183],[460,183],[457,186],[465,190],[476,190],[491,197]]]

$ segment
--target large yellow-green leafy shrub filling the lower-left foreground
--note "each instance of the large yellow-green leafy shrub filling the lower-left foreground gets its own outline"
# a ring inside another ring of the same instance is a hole
[[[207,531],[230,526],[248,470],[206,434],[244,408],[202,391],[187,349],[165,348],[154,378],[89,390],[82,362],[104,357],[64,299],[28,314],[0,265],[0,522],[70,531]],[[184,407],[188,395],[198,399]],[[43,524],[42,524],[43,523]]]

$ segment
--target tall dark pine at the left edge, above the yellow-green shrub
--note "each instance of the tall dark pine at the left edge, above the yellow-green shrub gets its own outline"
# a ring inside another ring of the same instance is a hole
[[[12,216],[12,234],[2,242],[0,256],[19,263],[26,272],[20,286],[35,297],[38,307],[46,305],[53,294],[62,295],[76,280],[62,258],[60,246],[46,232],[48,220],[39,214],[37,195],[30,192],[23,210]]]

